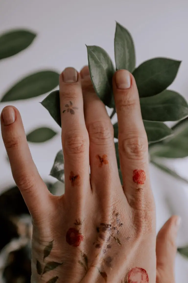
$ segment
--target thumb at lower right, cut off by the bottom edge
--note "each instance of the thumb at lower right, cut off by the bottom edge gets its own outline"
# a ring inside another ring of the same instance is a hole
[[[175,282],[174,261],[176,257],[176,237],[181,218],[172,216],[161,228],[156,240],[157,278],[156,283]]]

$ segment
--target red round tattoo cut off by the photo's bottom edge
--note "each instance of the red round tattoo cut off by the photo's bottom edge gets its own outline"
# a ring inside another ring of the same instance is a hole
[[[128,283],[147,283],[149,277],[145,269],[140,267],[132,268],[128,273]]]

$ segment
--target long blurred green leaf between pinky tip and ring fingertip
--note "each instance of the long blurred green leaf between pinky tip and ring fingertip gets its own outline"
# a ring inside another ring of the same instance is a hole
[[[1,99],[1,102],[37,97],[51,91],[59,84],[59,74],[44,70],[30,74],[11,87]]]

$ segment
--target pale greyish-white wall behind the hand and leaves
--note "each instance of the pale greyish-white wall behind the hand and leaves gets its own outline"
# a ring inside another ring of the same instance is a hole
[[[131,32],[137,65],[151,57],[182,60],[172,89],[188,99],[188,1],[187,0],[0,0],[0,33],[24,27],[38,33],[32,46],[24,52],[0,62],[0,96],[10,84],[27,73],[42,68],[61,72],[73,66],[80,70],[87,64],[85,44],[103,47],[114,61],[115,20]],[[21,112],[26,132],[41,125],[59,132],[42,145],[30,145],[39,173],[49,177],[57,151],[61,148],[60,128],[39,102],[42,97],[12,102]],[[6,103],[0,104],[0,111]],[[13,183],[5,161],[0,137],[0,188]],[[188,177],[188,159],[169,162],[180,174]],[[151,166],[151,180],[157,209],[157,230],[173,213],[182,216],[178,245],[188,244],[188,186],[175,181]],[[176,258],[176,282],[187,282],[188,261]]]

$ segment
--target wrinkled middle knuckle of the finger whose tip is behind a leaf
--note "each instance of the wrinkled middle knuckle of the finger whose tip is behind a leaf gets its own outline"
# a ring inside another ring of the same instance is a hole
[[[107,121],[93,122],[88,126],[89,139],[97,145],[105,145],[112,141],[114,128]]]

